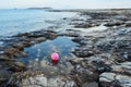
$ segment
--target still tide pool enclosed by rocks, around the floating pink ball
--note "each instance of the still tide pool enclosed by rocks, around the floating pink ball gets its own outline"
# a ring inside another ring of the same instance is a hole
[[[61,72],[67,74],[71,70],[71,64],[68,60],[74,58],[71,50],[78,48],[78,46],[70,37],[57,37],[53,40],[46,40],[25,48],[24,50],[28,53],[28,57],[21,58],[21,61],[32,70],[44,70],[49,76],[51,74],[58,75]],[[50,55],[52,52],[58,52],[60,55],[60,61],[57,65],[51,63]]]

